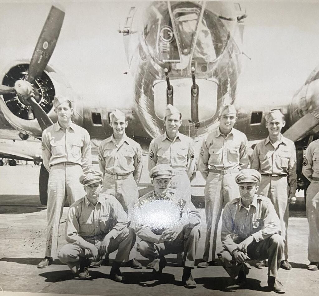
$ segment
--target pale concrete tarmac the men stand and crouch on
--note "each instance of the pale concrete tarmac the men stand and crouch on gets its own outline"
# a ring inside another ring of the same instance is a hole
[[[144,156],[144,163],[147,158]],[[151,271],[145,268],[146,258],[136,254],[143,269],[121,268],[125,280],[117,283],[108,278],[110,264],[90,269],[91,278],[73,278],[66,265],[55,260],[45,269],[37,264],[44,256],[46,241],[46,208],[41,207],[38,186],[39,166],[18,165],[0,167],[0,295],[4,291],[28,293],[73,294],[73,295],[273,295],[267,289],[267,268],[256,269],[252,264],[248,275],[248,285],[240,287],[228,277],[221,266],[195,268],[193,278],[197,288],[188,290],[182,286],[182,267],[177,256],[167,256],[168,266],[163,270],[161,280],[154,280]],[[140,196],[152,189],[145,165],[139,184]],[[200,247],[196,264],[204,251],[205,213],[204,180],[197,172],[192,183],[192,201],[202,215]],[[65,217],[68,207],[64,207],[59,232],[59,248],[64,239]],[[308,222],[302,192],[298,203],[290,206],[288,228],[289,261],[293,269],[279,270],[279,280],[286,289],[286,295],[317,295],[319,293],[319,271],[308,271]],[[220,232],[220,227],[219,227]],[[219,238],[218,234],[218,238]],[[219,242],[217,251],[222,248]],[[110,254],[110,261],[115,253]],[[38,294],[37,294],[38,295]]]

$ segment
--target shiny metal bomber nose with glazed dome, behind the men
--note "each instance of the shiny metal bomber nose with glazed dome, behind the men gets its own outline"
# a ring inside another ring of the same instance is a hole
[[[124,43],[135,110],[145,130],[153,138],[165,131],[167,68],[173,105],[182,113],[179,131],[192,138],[209,132],[220,106],[234,102],[241,72],[242,32],[233,11],[221,2],[154,2],[132,11]],[[192,67],[199,87],[197,122],[192,120]]]

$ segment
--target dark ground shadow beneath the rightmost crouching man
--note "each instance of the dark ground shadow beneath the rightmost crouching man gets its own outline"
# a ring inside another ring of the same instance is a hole
[[[233,292],[236,290],[252,290],[252,291],[269,291],[268,286],[262,287],[260,281],[255,278],[247,278],[247,285],[238,286],[234,284],[234,280],[229,277],[217,278],[195,278],[197,285],[203,285],[209,290],[219,290],[223,292]]]

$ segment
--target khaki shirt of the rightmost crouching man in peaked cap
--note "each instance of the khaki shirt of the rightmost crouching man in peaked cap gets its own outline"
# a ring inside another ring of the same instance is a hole
[[[252,235],[256,242],[281,233],[280,220],[267,197],[255,194],[247,210],[241,198],[233,199],[225,206],[222,218],[221,241],[223,247],[233,252],[238,244]]]

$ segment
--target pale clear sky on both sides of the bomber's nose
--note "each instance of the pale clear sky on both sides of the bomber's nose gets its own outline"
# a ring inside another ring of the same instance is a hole
[[[246,8],[242,73],[237,97],[251,105],[288,102],[319,63],[319,1],[250,1]],[[65,9],[50,64],[85,98],[130,105],[132,84],[122,35],[128,1],[0,0],[0,72],[31,58],[51,4]]]

